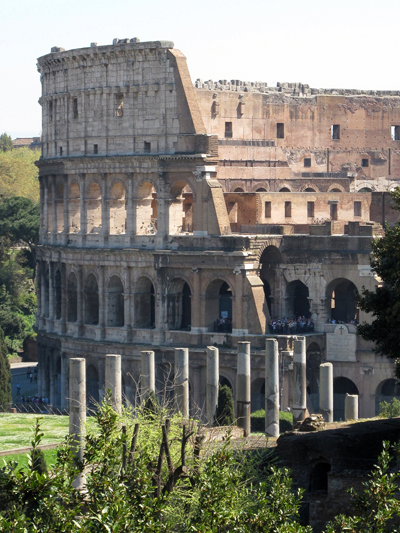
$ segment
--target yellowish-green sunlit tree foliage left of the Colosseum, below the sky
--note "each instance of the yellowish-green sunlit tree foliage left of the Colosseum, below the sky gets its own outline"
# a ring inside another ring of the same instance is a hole
[[[0,197],[23,196],[39,201],[39,170],[35,165],[40,152],[18,148],[6,152],[0,149]]]

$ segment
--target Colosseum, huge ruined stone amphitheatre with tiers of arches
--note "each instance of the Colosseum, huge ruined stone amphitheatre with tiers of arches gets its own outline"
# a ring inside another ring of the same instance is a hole
[[[68,360],[84,357],[98,400],[105,355],[118,353],[134,401],[140,352],[155,351],[161,390],[174,348],[188,347],[201,407],[206,347],[219,347],[220,380],[235,396],[245,340],[259,409],[265,337],[277,335],[285,408],[299,332],[310,410],[323,361],[334,367],[337,420],[346,392],[359,394],[362,417],[397,394],[392,364],[356,335],[367,317],[355,291],[376,286],[371,239],[395,221],[399,91],[193,83],[172,42],[137,38],[55,47],[38,70],[41,396],[66,407]]]

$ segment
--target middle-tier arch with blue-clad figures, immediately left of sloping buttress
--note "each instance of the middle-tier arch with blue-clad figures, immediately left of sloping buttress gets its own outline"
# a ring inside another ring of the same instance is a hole
[[[210,331],[232,332],[232,289],[225,281],[217,279],[208,285],[206,317]]]

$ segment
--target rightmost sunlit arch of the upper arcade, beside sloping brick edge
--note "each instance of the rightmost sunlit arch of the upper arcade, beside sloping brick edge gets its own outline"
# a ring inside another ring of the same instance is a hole
[[[193,191],[184,181],[171,187],[169,234],[193,233]]]

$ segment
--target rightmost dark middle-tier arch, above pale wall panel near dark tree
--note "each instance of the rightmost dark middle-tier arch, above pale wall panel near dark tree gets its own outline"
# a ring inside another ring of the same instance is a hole
[[[344,278],[333,280],[327,287],[328,317],[335,322],[358,321],[357,287]]]

